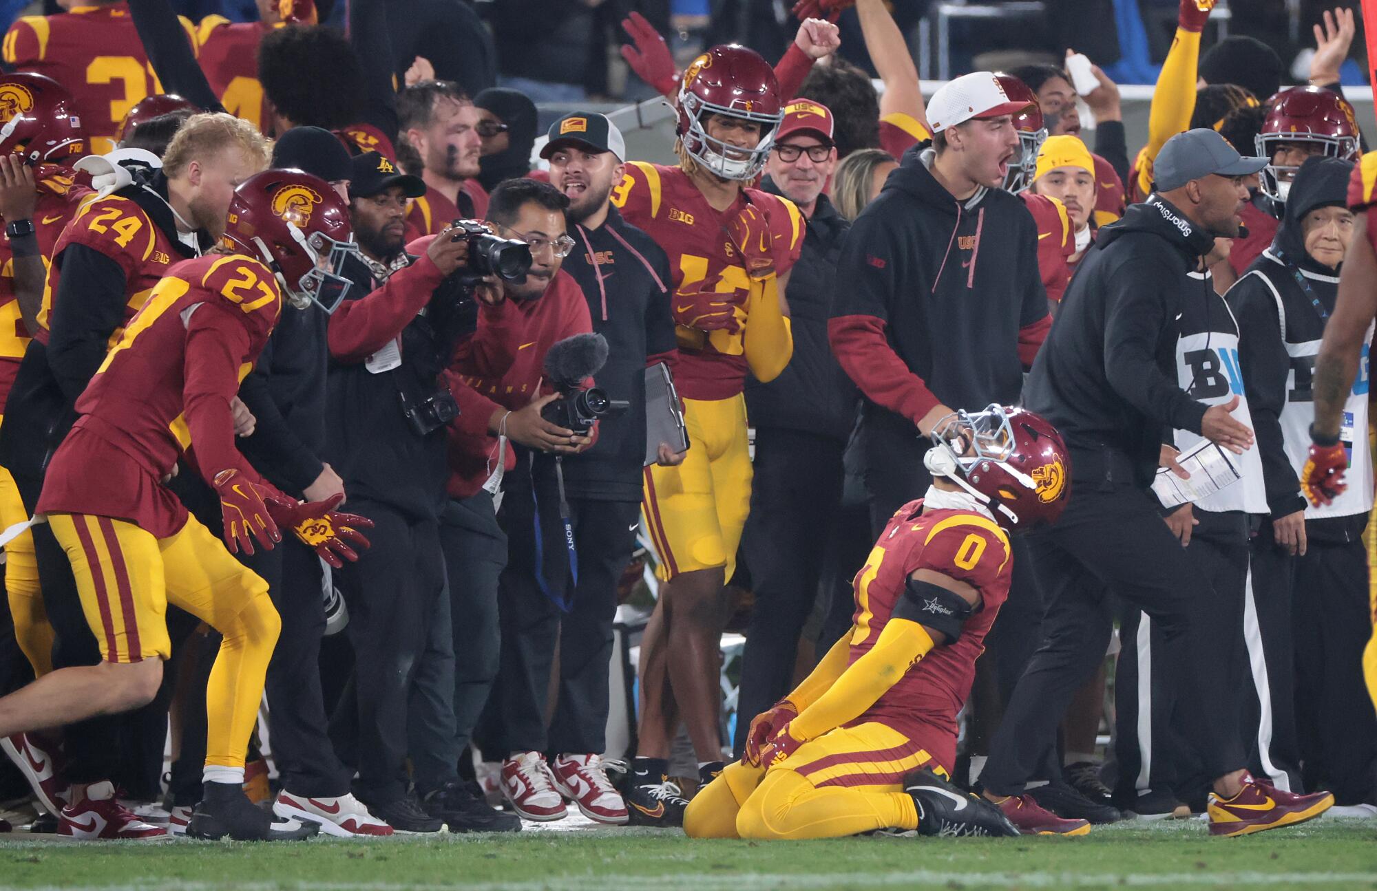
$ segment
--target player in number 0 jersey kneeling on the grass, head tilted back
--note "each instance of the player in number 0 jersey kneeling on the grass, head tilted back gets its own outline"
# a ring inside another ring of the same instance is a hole
[[[947,777],[957,712],[1009,591],[1005,528],[1062,512],[1066,447],[1042,418],[1000,406],[949,415],[931,439],[932,485],[856,573],[851,632],[752,722],[742,759],[688,804],[688,836],[1018,835]]]

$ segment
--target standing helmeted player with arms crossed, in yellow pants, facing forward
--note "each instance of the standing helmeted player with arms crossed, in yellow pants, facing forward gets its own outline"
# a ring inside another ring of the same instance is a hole
[[[679,715],[704,781],[720,770],[720,598],[750,505],[742,396],[746,373],[774,380],[793,351],[785,286],[804,220],[755,182],[784,118],[774,72],[753,51],[713,47],[679,89],[679,166],[631,162],[613,204],[669,250],[679,337],[675,382],[690,448],[646,469],[643,509],[664,584],[642,648],[632,822],[676,824],[683,799],[664,784]],[[672,693],[671,693],[672,690]]]

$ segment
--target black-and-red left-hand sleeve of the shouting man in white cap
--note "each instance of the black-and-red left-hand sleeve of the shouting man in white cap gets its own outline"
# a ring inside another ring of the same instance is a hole
[[[905,246],[877,214],[856,219],[837,260],[828,340],[841,368],[868,399],[914,424],[939,404],[890,345],[890,301],[901,292]]]

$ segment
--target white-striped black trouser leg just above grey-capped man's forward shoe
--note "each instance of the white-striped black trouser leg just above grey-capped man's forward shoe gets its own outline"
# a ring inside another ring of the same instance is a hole
[[[1243,641],[1256,696],[1243,697],[1242,737],[1248,767],[1279,789],[1301,792],[1296,738],[1296,660],[1292,588],[1296,558],[1276,546],[1271,520],[1263,520],[1249,549]],[[1365,588],[1366,593],[1366,588]]]

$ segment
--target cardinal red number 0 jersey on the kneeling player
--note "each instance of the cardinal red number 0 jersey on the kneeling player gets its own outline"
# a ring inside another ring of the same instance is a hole
[[[848,664],[874,646],[905,595],[909,575],[918,569],[965,582],[980,593],[982,602],[965,620],[960,638],[932,648],[852,723],[879,720],[910,738],[923,738],[924,748],[950,770],[956,760],[956,715],[971,693],[985,635],[1009,594],[1012,566],[1009,539],[989,517],[968,510],[923,513],[921,499],[901,507],[852,583]]]

